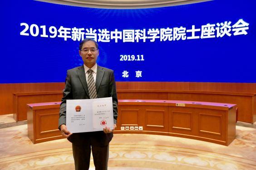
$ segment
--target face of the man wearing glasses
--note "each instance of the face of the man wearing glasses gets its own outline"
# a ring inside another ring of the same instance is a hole
[[[89,50],[89,52],[84,52],[84,49]],[[79,50],[79,55],[82,57],[84,65],[88,66],[89,68],[92,68],[95,65],[98,58],[98,50],[91,52],[91,49],[97,49],[93,41],[85,42],[81,49],[82,51]]]

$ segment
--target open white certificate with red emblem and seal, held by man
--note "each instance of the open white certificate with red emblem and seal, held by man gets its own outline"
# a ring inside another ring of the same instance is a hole
[[[112,97],[67,100],[66,126],[71,133],[113,130]]]

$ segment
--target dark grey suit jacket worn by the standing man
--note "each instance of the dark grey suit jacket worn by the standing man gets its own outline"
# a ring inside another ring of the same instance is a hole
[[[98,98],[112,97],[113,100],[113,118],[114,123],[117,123],[118,117],[118,99],[116,92],[116,82],[113,70],[105,67],[97,66],[96,75],[96,91]],[[63,90],[63,98],[60,104],[59,111],[59,126],[66,124],[66,100],[68,99],[90,99],[87,87],[87,81],[84,72],[84,65],[75,67],[67,71],[65,80],[65,89]],[[69,129],[68,129],[69,130]],[[89,142],[93,138],[95,145],[108,145],[113,137],[112,133],[98,132],[84,132],[74,133],[68,140],[72,143],[82,144]]]

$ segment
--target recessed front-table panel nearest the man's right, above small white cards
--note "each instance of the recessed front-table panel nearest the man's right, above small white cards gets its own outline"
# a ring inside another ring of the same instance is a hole
[[[138,126],[138,109],[121,110],[121,126]]]

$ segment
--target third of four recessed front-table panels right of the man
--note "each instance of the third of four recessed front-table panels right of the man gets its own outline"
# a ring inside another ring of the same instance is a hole
[[[172,111],[172,128],[192,130],[192,112]]]

